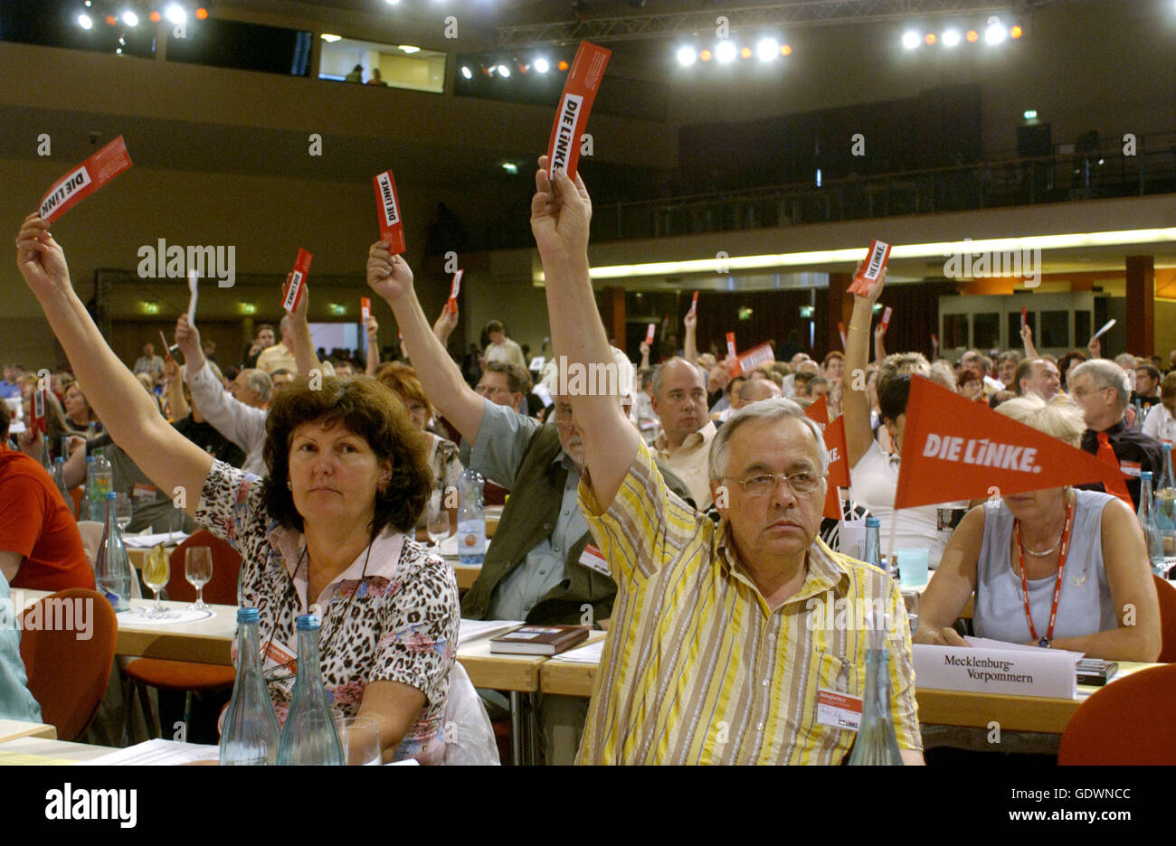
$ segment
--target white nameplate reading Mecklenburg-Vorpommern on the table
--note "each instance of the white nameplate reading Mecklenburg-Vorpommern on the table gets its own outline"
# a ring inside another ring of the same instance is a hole
[[[1074,699],[1074,653],[914,644],[915,685],[928,690]]]

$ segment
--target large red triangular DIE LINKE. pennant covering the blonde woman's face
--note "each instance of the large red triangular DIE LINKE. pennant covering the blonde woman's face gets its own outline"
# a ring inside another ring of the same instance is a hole
[[[1110,489],[1122,475],[930,380],[910,378],[896,509],[1089,482]]]

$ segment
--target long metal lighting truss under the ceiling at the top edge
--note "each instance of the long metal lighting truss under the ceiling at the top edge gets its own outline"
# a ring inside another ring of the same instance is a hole
[[[870,24],[917,16],[1015,12],[1029,0],[791,0],[766,6],[722,8],[713,6],[693,12],[593,18],[524,26],[503,26],[497,31],[497,47],[592,41],[636,41],[689,35],[713,31],[715,19],[726,15],[730,29],[760,27],[810,27],[828,24]],[[1042,5],[1037,0],[1033,5]]]

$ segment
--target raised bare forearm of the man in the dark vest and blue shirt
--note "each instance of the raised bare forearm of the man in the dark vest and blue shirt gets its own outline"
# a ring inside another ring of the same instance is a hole
[[[396,315],[405,343],[413,351],[413,369],[426,396],[470,443],[482,425],[486,400],[466,384],[459,368],[433,334],[413,288],[413,271],[400,256],[388,253],[387,241],[376,241],[368,249],[368,286]]]

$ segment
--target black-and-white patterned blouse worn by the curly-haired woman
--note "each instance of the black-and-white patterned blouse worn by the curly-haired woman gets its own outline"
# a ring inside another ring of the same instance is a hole
[[[294,622],[310,604],[306,542],[302,532],[281,528],[265,511],[261,486],[258,476],[213,462],[196,523],[241,553],[241,602],[259,611],[262,671],[285,723],[296,673]],[[426,701],[395,760],[441,763],[460,616],[453,569],[389,528],[312,602],[320,607],[319,653],[332,710],[358,713],[370,682],[415,687]]]

